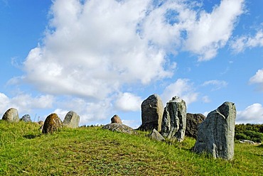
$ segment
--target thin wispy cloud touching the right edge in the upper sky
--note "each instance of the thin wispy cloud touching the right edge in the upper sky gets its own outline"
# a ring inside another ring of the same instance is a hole
[[[239,38],[235,38],[230,47],[235,53],[241,53],[247,48],[263,47],[263,31],[259,30],[254,36],[242,35]]]

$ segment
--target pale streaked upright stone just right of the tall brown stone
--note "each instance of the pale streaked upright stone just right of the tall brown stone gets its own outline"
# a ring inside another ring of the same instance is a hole
[[[173,97],[163,111],[161,134],[168,139],[183,141],[186,131],[186,101]]]

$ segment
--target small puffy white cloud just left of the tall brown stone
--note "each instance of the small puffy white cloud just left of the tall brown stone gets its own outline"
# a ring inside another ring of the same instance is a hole
[[[129,92],[119,94],[115,106],[121,111],[139,111],[141,109],[141,97],[137,97]]]

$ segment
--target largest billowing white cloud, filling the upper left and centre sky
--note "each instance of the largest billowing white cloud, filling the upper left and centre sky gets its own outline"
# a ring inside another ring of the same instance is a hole
[[[28,54],[23,80],[48,94],[104,99],[126,83],[171,77],[165,51],[136,32],[148,4],[54,1],[44,43]]]

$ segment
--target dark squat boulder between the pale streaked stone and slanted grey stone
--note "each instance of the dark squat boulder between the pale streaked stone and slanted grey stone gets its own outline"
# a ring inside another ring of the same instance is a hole
[[[191,138],[197,138],[198,126],[205,120],[203,114],[186,114],[186,133],[185,135]]]

